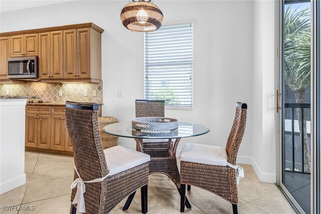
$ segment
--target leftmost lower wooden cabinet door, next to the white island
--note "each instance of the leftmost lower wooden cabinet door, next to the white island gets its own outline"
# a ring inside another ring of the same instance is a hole
[[[26,135],[25,143],[28,147],[37,147],[37,115],[26,114]]]

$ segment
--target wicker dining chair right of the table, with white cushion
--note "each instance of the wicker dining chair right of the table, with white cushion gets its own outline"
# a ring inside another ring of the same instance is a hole
[[[235,118],[225,148],[187,143],[182,149],[181,212],[185,210],[186,184],[217,194],[232,203],[233,213],[238,212],[237,184],[243,169],[236,164],[236,156],[245,130],[246,112],[245,103],[236,103]]]

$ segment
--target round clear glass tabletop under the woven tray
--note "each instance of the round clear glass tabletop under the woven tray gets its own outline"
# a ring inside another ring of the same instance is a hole
[[[170,132],[141,132],[131,127],[131,121],[113,123],[103,127],[103,131],[119,136],[119,137],[130,137],[130,138],[144,138],[144,139],[168,139],[168,138],[183,138],[193,137],[202,134],[206,134],[210,129],[202,124],[182,122],[179,121],[178,128]]]

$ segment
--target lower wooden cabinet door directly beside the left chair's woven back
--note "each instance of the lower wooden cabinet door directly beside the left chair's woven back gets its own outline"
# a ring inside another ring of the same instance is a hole
[[[51,149],[65,150],[65,115],[51,116]]]

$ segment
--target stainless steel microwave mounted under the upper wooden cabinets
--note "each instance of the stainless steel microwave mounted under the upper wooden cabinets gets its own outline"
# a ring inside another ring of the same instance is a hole
[[[8,58],[8,78],[38,78],[38,57]]]

